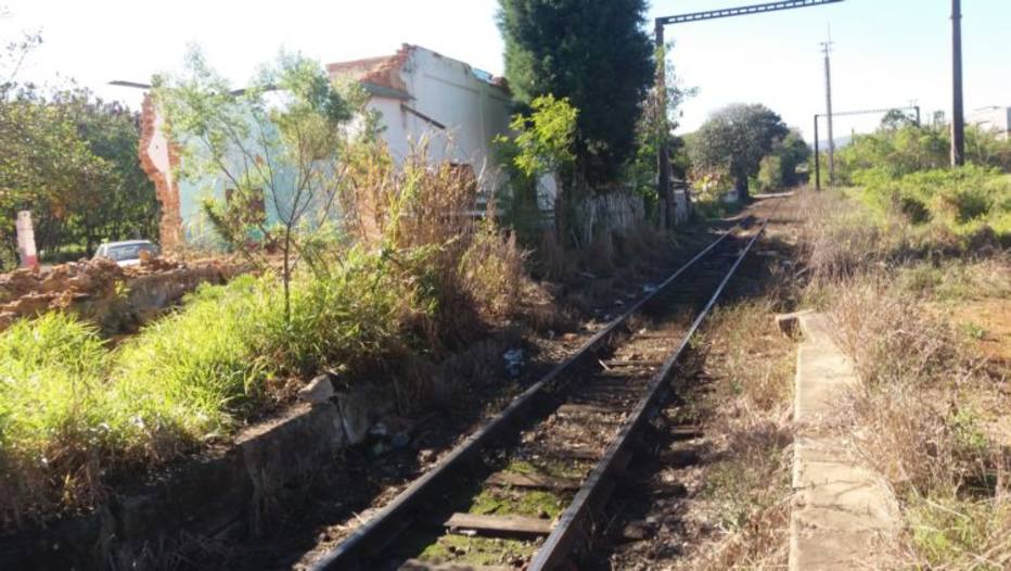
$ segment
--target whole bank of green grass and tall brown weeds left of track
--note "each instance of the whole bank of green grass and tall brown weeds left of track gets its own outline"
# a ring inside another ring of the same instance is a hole
[[[410,363],[517,315],[524,254],[470,215],[473,174],[423,148],[397,166],[372,137],[345,149],[342,238],[295,242],[289,294],[267,266],[114,348],[62,315],[0,334],[0,524],[87,509],[113,479],[228,442],[323,370],[349,385],[382,371],[409,413],[431,391]]]

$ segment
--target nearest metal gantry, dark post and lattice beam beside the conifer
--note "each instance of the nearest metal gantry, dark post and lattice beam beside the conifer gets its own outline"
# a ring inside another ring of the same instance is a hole
[[[661,16],[655,20],[656,23],[656,49],[657,53],[664,53],[664,28],[674,24],[688,24],[691,22],[702,22],[706,20],[717,20],[724,17],[747,16],[753,14],[765,14],[767,12],[780,12],[783,10],[794,10],[797,8],[812,8],[824,4],[835,4],[844,0],[783,0],[781,2],[768,2],[765,4],[753,4],[738,8],[725,8],[721,10],[707,10],[705,12],[692,12],[689,14],[677,14],[673,16]],[[664,72],[665,65],[661,63],[656,66],[656,87],[660,91],[661,107],[667,109],[667,89],[666,77]],[[670,156],[668,155],[666,138],[661,138],[657,152],[657,190],[662,204],[667,204],[670,196]],[[666,213],[662,213],[666,217]],[[666,225],[666,220],[662,220]]]

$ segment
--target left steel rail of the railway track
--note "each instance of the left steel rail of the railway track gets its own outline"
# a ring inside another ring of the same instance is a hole
[[[435,467],[398,494],[393,502],[362,524],[334,549],[318,559],[310,569],[312,571],[363,569],[361,566],[368,558],[377,555],[383,547],[388,545],[389,542],[413,523],[414,518],[411,513],[412,509],[437,492],[439,486],[444,484],[444,481],[451,478],[455,471],[462,469],[476,458],[477,454],[486,444],[492,442],[512,423],[522,419],[523,415],[532,408],[536,397],[545,389],[551,386],[555,379],[562,373],[578,365],[583,359],[591,355],[593,351],[609,341],[631,316],[637,314],[645,304],[656,299],[665,289],[681,277],[682,274],[708,255],[734,231],[742,228],[748,219],[750,217],[741,220],[737,226],[714,240],[702,252],[696,254],[688,263],[678,268],[677,271],[671,274],[670,277],[660,283],[654,292],[639,300],[639,302],[632,305],[628,310],[612,320],[606,327],[584,343],[573,356],[555,366],[545,377],[530,385],[529,389],[516,396],[501,413],[488,421],[487,424],[458,444],[445,458],[439,460]]]

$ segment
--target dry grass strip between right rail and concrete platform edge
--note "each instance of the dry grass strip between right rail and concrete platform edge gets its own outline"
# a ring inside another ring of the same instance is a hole
[[[718,531],[692,550],[686,569],[786,563],[795,344],[775,325],[779,309],[777,296],[745,301],[718,310],[706,329],[712,382],[696,414],[712,444],[693,511]]]

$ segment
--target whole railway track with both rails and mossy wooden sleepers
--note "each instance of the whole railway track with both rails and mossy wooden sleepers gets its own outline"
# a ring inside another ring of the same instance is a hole
[[[721,234],[310,569],[562,568],[767,223]]]

